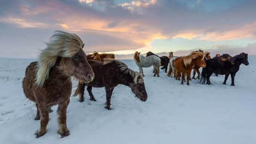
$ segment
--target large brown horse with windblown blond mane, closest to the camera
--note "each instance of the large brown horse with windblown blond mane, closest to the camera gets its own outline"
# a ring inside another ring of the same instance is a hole
[[[76,34],[57,30],[46,46],[38,61],[27,66],[22,87],[25,96],[36,103],[37,113],[41,116],[36,137],[46,133],[49,109],[57,104],[58,133],[64,137],[69,135],[66,111],[72,92],[71,76],[91,82],[94,73],[82,50],[83,41]]]

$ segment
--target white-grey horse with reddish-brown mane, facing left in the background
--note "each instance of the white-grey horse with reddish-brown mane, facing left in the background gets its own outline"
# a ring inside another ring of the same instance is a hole
[[[154,67],[154,76],[157,75],[157,77],[159,77],[159,71],[160,71],[159,68],[161,65],[161,59],[159,57],[157,57],[155,55],[145,57],[143,55],[140,55],[140,53],[136,51],[134,53],[133,59],[134,59],[136,65],[139,67],[139,71],[142,74],[142,76],[145,76],[142,68],[145,68],[145,67],[147,68],[147,67],[153,66]]]

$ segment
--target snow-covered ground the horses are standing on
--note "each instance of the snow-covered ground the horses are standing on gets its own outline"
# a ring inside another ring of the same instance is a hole
[[[80,103],[71,97],[67,109],[70,135],[57,134],[56,109],[50,113],[47,133],[35,138],[40,121],[33,102],[22,89],[25,69],[35,59],[0,58],[1,144],[255,144],[256,143],[256,56],[241,65],[235,85],[222,85],[224,76],[210,77],[212,85],[190,86],[167,77],[153,77],[152,67],[143,68],[148,100],[141,102],[129,87],[117,86],[111,111],[104,108],[105,89],[93,88],[97,102]],[[122,60],[139,70],[133,60]],[[201,71],[201,70],[200,70]],[[73,82],[76,86],[77,82]],[[75,88],[73,88],[75,89]]]

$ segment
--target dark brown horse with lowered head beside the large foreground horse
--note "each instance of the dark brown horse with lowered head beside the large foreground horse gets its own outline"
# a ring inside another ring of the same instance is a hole
[[[145,90],[143,76],[139,72],[131,70],[125,63],[114,59],[105,59],[104,62],[88,60],[88,62],[95,73],[95,78],[89,83],[79,82],[74,95],[80,95],[80,102],[84,101],[85,85],[91,101],[96,101],[91,92],[92,87],[105,87],[107,101],[104,108],[108,110],[111,110],[110,100],[113,89],[119,84],[129,86],[141,101],[145,102],[147,100],[148,95]]]

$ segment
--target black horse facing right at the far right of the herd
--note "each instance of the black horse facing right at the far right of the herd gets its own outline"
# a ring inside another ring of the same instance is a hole
[[[198,80],[198,83],[205,84],[205,81],[207,80],[207,84],[210,85],[210,76],[212,73],[216,74],[225,74],[225,79],[222,84],[226,85],[227,78],[229,77],[229,74],[231,75],[232,84],[235,86],[234,79],[236,72],[238,72],[239,67],[241,64],[248,65],[248,54],[247,53],[240,53],[239,55],[234,56],[231,59],[228,59],[226,61],[220,61],[218,59],[208,59],[206,61],[206,67],[203,68],[201,73],[201,78]]]

